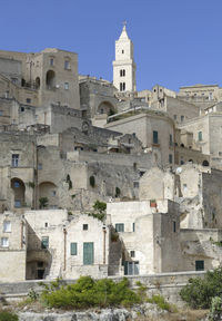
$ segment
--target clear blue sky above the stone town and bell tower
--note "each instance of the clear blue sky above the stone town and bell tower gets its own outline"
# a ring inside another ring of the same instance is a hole
[[[79,72],[112,80],[122,21],[134,43],[138,90],[222,86],[222,0],[2,0],[2,50],[78,52]]]

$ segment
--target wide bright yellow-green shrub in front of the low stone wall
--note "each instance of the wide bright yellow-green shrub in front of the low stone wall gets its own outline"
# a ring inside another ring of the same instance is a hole
[[[91,276],[81,276],[75,284],[48,286],[41,300],[49,308],[88,309],[91,307],[131,307],[140,303],[141,298],[129,288],[128,279],[114,283],[102,279],[94,281]]]

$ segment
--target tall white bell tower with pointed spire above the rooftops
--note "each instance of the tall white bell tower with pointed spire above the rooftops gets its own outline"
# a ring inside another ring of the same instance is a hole
[[[113,85],[119,91],[135,91],[135,64],[133,43],[128,37],[127,22],[123,22],[122,33],[115,41],[115,60],[113,66]]]

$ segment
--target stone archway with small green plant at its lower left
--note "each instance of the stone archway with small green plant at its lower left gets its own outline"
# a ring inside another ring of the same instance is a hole
[[[58,187],[52,182],[39,184],[39,207],[58,207]]]

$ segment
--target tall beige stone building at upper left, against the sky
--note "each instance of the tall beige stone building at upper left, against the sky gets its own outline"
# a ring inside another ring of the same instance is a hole
[[[2,70],[2,72],[1,72]],[[80,108],[78,57],[74,52],[47,48],[37,54],[0,51],[1,95],[21,104],[65,105]]]

